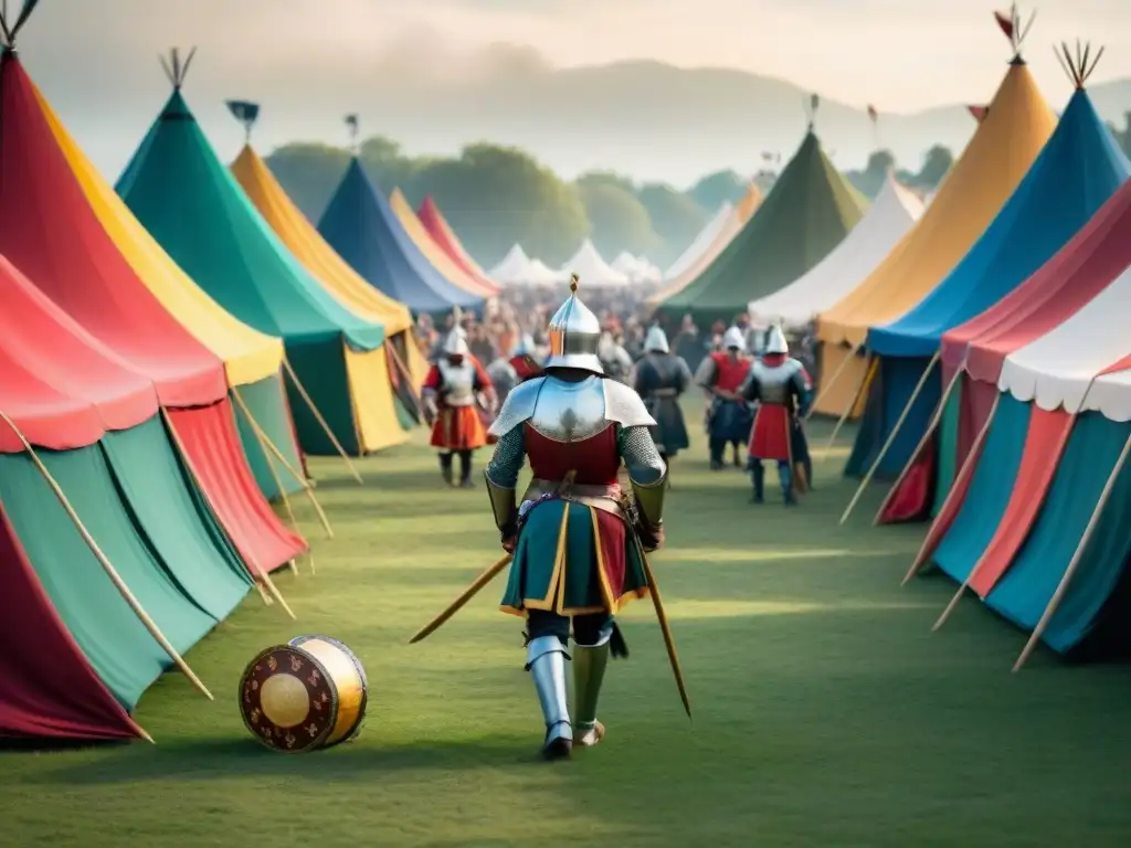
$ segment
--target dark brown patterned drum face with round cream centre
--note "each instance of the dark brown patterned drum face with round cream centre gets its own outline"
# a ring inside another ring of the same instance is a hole
[[[334,729],[337,690],[314,657],[279,644],[261,651],[244,669],[240,712],[264,745],[300,754],[320,747]]]

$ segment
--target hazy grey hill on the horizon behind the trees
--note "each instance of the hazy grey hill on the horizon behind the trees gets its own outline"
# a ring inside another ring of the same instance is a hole
[[[1089,92],[1100,114],[1122,127],[1131,111],[1131,79]],[[363,114],[368,130],[411,152],[454,150],[484,139],[524,147],[564,176],[614,170],[685,187],[724,167],[753,173],[763,152],[788,157],[805,129],[809,95],[745,71],[633,61],[566,70],[535,66],[486,83],[402,92],[381,85],[369,94]],[[880,137],[914,170],[931,145],[960,152],[974,127],[965,104],[956,104],[883,114]],[[841,170],[858,167],[873,149],[863,107],[824,99],[817,128]]]

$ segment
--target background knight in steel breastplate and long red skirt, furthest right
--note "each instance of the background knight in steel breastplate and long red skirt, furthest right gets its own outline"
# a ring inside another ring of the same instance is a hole
[[[795,482],[808,484],[809,444],[802,419],[813,401],[813,384],[804,365],[789,356],[780,327],[772,327],[766,353],[756,362],[739,389],[745,400],[758,403],[750,432],[750,476],[753,503],[765,500],[763,459],[777,460],[782,496],[787,505],[796,503]],[[803,477],[804,479],[797,479]]]

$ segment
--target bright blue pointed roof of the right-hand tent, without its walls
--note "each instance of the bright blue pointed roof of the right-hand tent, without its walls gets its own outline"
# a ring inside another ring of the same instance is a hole
[[[931,356],[942,335],[1008,295],[1088,223],[1129,165],[1081,88],[1016,191],[958,266],[899,320],[873,327],[881,356]]]

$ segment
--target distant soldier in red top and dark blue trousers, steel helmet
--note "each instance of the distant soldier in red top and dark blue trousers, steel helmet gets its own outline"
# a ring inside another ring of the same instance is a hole
[[[750,425],[753,416],[750,405],[739,396],[746,374],[750,373],[750,360],[744,355],[746,340],[742,330],[732,327],[723,336],[725,351],[713,352],[703,360],[696,382],[707,392],[707,436],[710,445],[711,470],[723,468],[723,453],[727,443],[731,444],[734,465],[742,467],[739,459],[739,445],[750,439]]]

